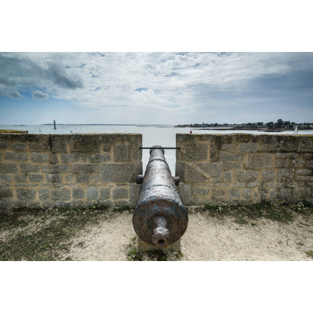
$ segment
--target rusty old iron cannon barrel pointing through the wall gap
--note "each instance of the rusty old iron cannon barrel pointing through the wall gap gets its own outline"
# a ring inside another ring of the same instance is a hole
[[[175,186],[179,177],[172,177],[161,146],[151,148],[145,176],[139,175],[137,184],[142,187],[132,222],[138,237],[159,248],[179,240],[188,214]]]

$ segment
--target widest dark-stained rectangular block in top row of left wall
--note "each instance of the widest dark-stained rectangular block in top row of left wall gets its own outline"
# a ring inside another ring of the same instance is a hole
[[[79,152],[99,152],[100,135],[75,134],[70,139],[71,151]]]

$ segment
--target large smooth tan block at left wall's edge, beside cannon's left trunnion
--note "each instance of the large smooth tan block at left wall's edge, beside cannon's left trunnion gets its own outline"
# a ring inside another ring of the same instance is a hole
[[[100,181],[111,183],[135,183],[137,175],[143,174],[143,163],[107,163],[100,165]]]

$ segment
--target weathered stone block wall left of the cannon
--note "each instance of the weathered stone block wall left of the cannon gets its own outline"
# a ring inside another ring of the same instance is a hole
[[[136,204],[141,134],[0,134],[0,208]]]

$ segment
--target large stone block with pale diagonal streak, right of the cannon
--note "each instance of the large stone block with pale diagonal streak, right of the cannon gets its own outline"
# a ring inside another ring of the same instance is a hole
[[[222,181],[223,163],[183,163],[176,162],[176,175],[183,182]]]

